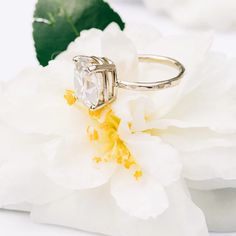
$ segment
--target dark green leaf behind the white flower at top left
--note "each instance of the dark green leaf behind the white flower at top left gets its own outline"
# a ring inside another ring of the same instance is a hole
[[[38,0],[33,38],[40,64],[46,66],[82,30],[104,30],[111,22],[124,29],[120,16],[103,0]]]

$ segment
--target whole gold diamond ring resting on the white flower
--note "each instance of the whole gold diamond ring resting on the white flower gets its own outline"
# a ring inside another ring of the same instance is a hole
[[[179,84],[185,68],[175,59],[156,56],[139,55],[144,63],[159,63],[178,70],[178,74],[170,79],[156,82],[128,82],[117,78],[116,66],[108,58],[95,56],[76,56],[75,62],[75,98],[89,110],[97,110],[113,102],[117,97],[117,89],[140,91],[160,90]]]

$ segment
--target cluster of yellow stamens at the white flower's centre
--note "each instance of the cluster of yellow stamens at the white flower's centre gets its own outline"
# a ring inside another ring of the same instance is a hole
[[[64,96],[69,105],[75,103],[73,102],[73,96],[73,93],[68,93],[68,91]],[[105,117],[100,119],[103,113],[105,113]],[[132,169],[136,180],[142,177],[143,173],[139,164],[118,134],[120,118],[108,107],[98,111],[90,111],[89,116],[95,121],[96,125],[87,127],[87,135],[90,142],[101,153],[101,155],[93,157],[93,160],[97,164],[115,161],[125,169]],[[130,124],[128,125],[130,126]]]

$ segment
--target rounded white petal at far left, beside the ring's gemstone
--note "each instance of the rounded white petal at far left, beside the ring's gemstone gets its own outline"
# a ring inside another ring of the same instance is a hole
[[[63,74],[63,68],[68,73]],[[1,117],[28,133],[78,133],[88,117],[64,99],[66,89],[73,89],[71,82],[66,82],[72,78],[73,66],[64,62],[24,71],[7,84],[0,101]]]

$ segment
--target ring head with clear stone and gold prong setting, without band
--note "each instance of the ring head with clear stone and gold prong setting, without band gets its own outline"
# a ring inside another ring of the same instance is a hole
[[[74,58],[75,96],[87,108],[95,110],[115,98],[116,71],[106,58],[78,56]]]

